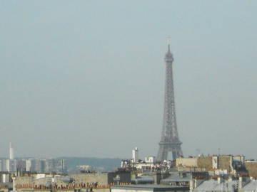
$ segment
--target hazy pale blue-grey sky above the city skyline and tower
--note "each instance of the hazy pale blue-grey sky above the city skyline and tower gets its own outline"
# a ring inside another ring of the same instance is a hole
[[[0,0],[0,156],[155,156],[166,38],[185,156],[257,158],[257,1]]]

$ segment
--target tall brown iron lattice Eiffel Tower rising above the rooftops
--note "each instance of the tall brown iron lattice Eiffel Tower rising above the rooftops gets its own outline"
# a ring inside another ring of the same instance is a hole
[[[157,161],[167,160],[168,152],[172,152],[173,159],[182,156],[181,144],[178,139],[178,129],[176,124],[175,98],[173,88],[172,63],[173,55],[168,44],[168,52],[165,55],[166,62],[166,81],[165,81],[165,101],[163,113],[163,128]]]

